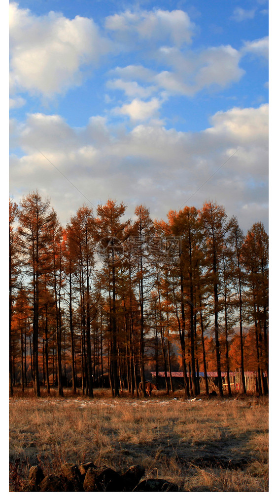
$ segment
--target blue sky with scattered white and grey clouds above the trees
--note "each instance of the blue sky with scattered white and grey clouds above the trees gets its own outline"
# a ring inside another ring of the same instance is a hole
[[[156,218],[212,199],[267,229],[265,0],[9,9],[14,200],[38,189],[64,224],[107,198]]]

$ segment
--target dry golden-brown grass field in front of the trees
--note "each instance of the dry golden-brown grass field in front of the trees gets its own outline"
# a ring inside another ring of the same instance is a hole
[[[31,465],[45,474],[66,461],[93,461],[124,470],[145,467],[183,491],[268,490],[268,399],[245,397],[185,400],[159,391],[148,399],[93,400],[52,393],[10,399],[10,463],[19,459],[10,490],[21,490]]]

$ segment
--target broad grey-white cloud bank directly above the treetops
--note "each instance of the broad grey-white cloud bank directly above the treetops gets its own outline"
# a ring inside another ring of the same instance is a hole
[[[10,192],[15,200],[36,188],[49,194],[62,223],[87,202],[38,148],[94,205],[108,197],[123,200],[129,217],[145,203],[160,218],[183,205],[239,148],[187,203],[200,208],[206,198],[216,199],[246,230],[255,220],[266,222],[267,111],[262,105],[218,112],[211,127],[194,133],[153,122],[127,132],[103,117],[73,129],[56,115],[30,115],[26,123],[11,124],[12,145],[23,156],[11,157]]]

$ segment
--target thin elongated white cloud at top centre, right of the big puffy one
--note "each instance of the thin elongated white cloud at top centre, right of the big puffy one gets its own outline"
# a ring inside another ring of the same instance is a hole
[[[189,44],[195,28],[185,12],[160,9],[153,12],[125,11],[122,14],[114,14],[106,18],[105,27],[113,32],[119,41],[132,45],[138,37],[140,41],[147,43],[168,39],[177,46]]]

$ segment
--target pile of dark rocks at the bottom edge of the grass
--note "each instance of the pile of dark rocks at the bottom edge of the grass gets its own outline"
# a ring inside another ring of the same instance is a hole
[[[144,478],[139,464],[118,473],[91,461],[62,464],[57,475],[45,476],[40,466],[31,466],[25,490],[30,492],[177,492],[178,486],[162,478]]]

